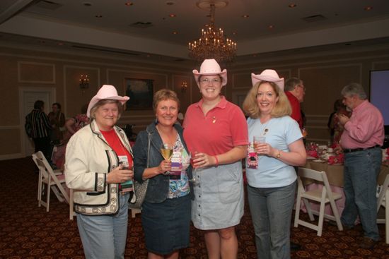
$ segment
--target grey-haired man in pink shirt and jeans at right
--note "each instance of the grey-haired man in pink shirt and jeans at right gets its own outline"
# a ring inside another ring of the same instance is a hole
[[[344,126],[340,145],[344,152],[344,195],[341,221],[345,229],[354,227],[359,215],[364,239],[361,248],[373,248],[380,239],[377,226],[377,177],[381,169],[381,146],[385,137],[383,116],[367,100],[362,85],[351,83],[342,92],[343,103],[352,110],[349,118],[337,114]]]

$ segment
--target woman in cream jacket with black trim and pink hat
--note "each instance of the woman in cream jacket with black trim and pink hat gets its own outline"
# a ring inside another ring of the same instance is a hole
[[[74,189],[86,258],[124,258],[134,172],[126,134],[115,124],[127,100],[113,85],[103,85],[88,105],[91,123],[66,146],[66,185]]]

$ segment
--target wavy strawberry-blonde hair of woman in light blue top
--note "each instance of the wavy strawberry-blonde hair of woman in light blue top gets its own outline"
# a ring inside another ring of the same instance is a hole
[[[274,82],[260,81],[252,86],[247,96],[245,97],[245,101],[243,102],[243,111],[246,115],[248,115],[251,119],[257,119],[260,117],[260,107],[258,107],[257,102],[257,94],[258,88],[263,83],[269,83],[272,86],[276,96],[279,98],[276,105],[270,112],[270,115],[273,118],[278,118],[285,115],[291,115],[291,104],[289,103],[288,97],[286,97],[283,90],[279,89],[278,85]]]

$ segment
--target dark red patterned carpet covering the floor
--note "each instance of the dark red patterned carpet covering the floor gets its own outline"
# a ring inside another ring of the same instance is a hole
[[[52,195],[50,212],[37,207],[37,170],[32,159],[0,161],[0,258],[84,258],[76,220],[69,220],[69,207]],[[361,227],[337,231],[325,223],[323,236],[306,227],[292,227],[292,241],[302,249],[292,252],[291,258],[387,258],[385,229],[378,225],[382,241],[373,250],[358,246]],[[126,258],[147,258],[141,219],[129,220]],[[237,227],[238,258],[256,258],[254,232],[248,206]],[[181,252],[181,258],[207,258],[201,231],[192,227],[191,246]]]

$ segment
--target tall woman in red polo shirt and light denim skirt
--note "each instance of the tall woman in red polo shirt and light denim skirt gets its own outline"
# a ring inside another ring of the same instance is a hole
[[[185,114],[184,138],[194,159],[192,222],[204,230],[208,258],[236,258],[235,226],[243,216],[243,174],[248,129],[238,106],[221,95],[227,71],[206,59],[193,71],[202,100]]]

